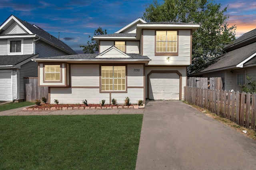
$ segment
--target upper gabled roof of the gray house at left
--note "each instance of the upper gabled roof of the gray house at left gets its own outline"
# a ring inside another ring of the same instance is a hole
[[[34,34],[37,37],[40,37],[40,39],[43,39],[44,41],[58,47],[59,49],[62,49],[70,54],[77,54],[73,49],[66,45],[66,43],[50,35],[48,32],[44,31],[40,27],[36,25],[31,25],[26,21],[22,21],[14,15],[11,15],[6,21],[4,21],[4,23],[2,23],[2,25],[0,25],[0,32],[7,29],[14,21],[17,22],[27,32],[27,35]]]

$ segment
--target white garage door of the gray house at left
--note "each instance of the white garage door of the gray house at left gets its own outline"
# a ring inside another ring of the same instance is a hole
[[[0,72],[0,101],[12,101],[12,72]]]

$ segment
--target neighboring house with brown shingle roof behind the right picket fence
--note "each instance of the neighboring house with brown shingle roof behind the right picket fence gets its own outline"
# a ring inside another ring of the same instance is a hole
[[[224,47],[226,52],[216,57],[191,75],[222,77],[224,90],[241,91],[240,85],[247,84],[246,76],[256,79],[256,29],[245,33]]]

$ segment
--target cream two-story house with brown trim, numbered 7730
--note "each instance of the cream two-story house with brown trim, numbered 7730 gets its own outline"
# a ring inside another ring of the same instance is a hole
[[[113,34],[94,36],[98,54],[37,57],[39,84],[49,86],[51,103],[182,99],[192,32],[199,26],[138,18]]]

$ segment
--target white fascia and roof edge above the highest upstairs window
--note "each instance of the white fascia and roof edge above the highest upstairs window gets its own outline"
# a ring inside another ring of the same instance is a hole
[[[199,27],[199,24],[137,24],[137,28],[140,29],[192,29],[195,31]]]

